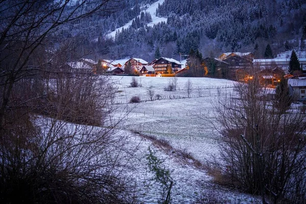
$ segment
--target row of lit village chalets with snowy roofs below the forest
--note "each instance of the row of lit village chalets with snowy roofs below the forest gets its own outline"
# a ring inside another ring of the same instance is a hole
[[[306,58],[300,58],[300,70],[288,72],[289,59],[254,59],[253,53],[223,53],[218,58],[207,57],[199,64],[189,57],[183,61],[161,57],[147,62],[130,58],[124,64],[115,60],[81,59],[68,63],[76,72],[91,72],[110,75],[139,75],[141,77],[213,77],[234,81],[252,80],[254,75],[262,85],[275,88],[282,78],[288,79],[291,91],[299,100],[306,98]],[[202,66],[198,75],[191,70]]]

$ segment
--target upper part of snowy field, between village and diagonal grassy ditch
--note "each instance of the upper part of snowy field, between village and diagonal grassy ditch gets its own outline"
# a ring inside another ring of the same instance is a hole
[[[210,78],[177,78],[177,90],[165,91],[164,87],[172,79],[138,77],[142,87],[129,87],[132,77],[113,77],[118,88],[115,98],[115,103],[118,103],[117,114],[126,109],[129,112],[121,127],[166,139],[173,147],[190,151],[201,162],[218,158],[217,135],[207,120],[214,119],[212,103],[225,97],[225,94],[233,93],[234,82]],[[185,88],[188,80],[193,86],[191,98],[187,98]],[[150,101],[146,94],[148,87],[167,99]],[[132,96],[139,96],[146,101],[126,104]],[[172,99],[168,99],[170,97]]]

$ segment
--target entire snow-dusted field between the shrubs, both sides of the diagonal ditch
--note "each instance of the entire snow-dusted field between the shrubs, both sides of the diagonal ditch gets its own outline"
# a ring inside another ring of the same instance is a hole
[[[202,163],[213,162],[219,158],[218,135],[213,131],[212,124],[215,111],[212,103],[225,93],[233,93],[233,81],[210,78],[177,78],[177,90],[165,91],[164,87],[173,78],[137,77],[142,87],[129,87],[132,77],[113,76],[117,86],[117,96],[113,105],[116,107],[114,117],[122,117],[129,113],[118,125],[124,132],[136,131],[144,135],[155,136],[169,141],[175,149],[190,152]],[[185,83],[190,80],[193,84],[192,98],[160,99],[150,101],[146,89],[152,87],[155,94],[186,96]],[[199,94],[202,97],[198,97]],[[137,95],[143,101],[138,104],[125,103]],[[120,102],[119,102],[120,101]],[[121,104],[122,102],[122,104]],[[218,127],[218,126],[217,126]],[[138,145],[137,165],[131,170],[131,175],[137,181],[148,178],[146,154],[148,147],[156,151],[156,156],[164,160],[166,168],[171,170],[175,185],[172,189],[173,203],[192,203],[200,197],[203,191],[214,191],[220,194],[227,203],[250,203],[254,200],[249,195],[227,190],[213,184],[213,178],[206,170],[199,169],[191,163],[184,163],[175,157],[170,150],[152,145],[148,139],[135,135],[131,145]],[[136,161],[136,160],[135,160]],[[156,203],[159,192],[155,188],[140,186],[140,198],[144,203]],[[256,200],[256,199],[255,199]]]

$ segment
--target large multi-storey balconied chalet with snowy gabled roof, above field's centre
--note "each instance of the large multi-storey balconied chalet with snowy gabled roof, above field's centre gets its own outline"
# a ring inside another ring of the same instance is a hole
[[[151,62],[156,73],[165,74],[167,73],[167,66],[171,67],[172,71],[175,73],[182,68],[182,64],[172,58],[161,57],[158,60]]]

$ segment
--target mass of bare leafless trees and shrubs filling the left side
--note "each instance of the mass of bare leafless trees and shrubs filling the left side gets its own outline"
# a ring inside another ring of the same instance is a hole
[[[70,69],[68,42],[53,49],[63,25],[114,11],[117,4],[72,3],[0,2],[1,203],[130,199],[122,171],[132,152],[113,129],[112,83]]]

